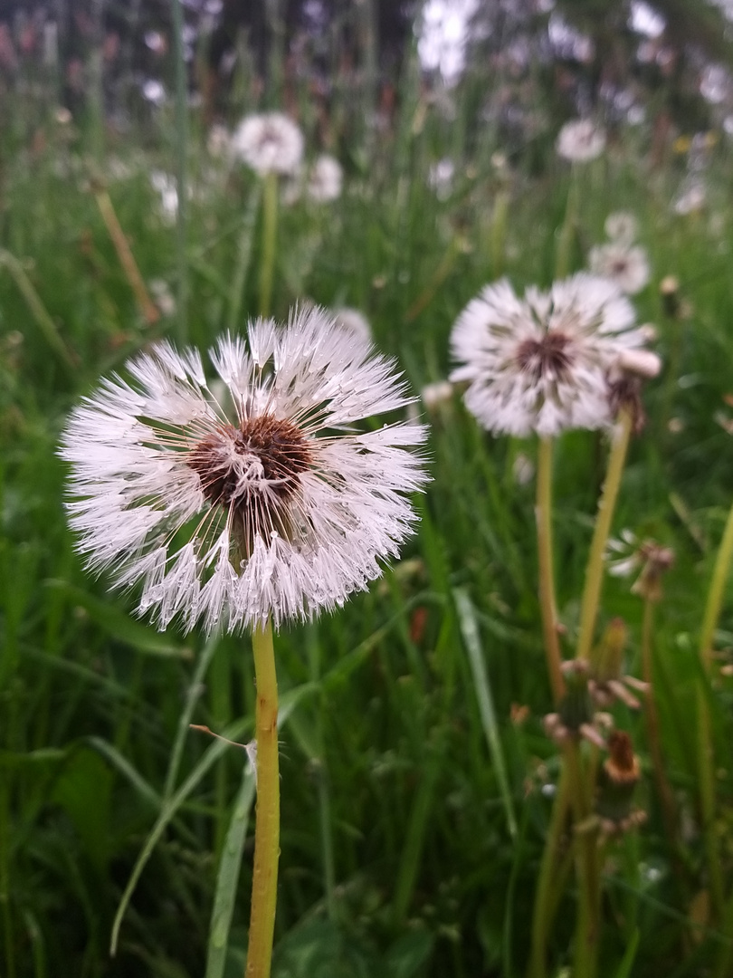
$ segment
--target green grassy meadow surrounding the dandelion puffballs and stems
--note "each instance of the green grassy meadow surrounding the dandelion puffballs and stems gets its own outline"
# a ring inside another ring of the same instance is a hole
[[[47,96],[42,85],[19,87],[2,109],[0,973],[229,978],[246,954],[254,788],[242,750],[189,724],[251,737],[249,640],[160,634],[134,617],[133,597],[87,574],[56,452],[72,406],[130,355],[163,336],[206,348],[258,314],[260,182],[209,152],[196,109],[184,143],[173,100],[120,128],[95,116],[94,100],[69,120]],[[256,108],[234,101],[232,122]],[[322,147],[305,86],[291,102],[314,156]],[[678,845],[665,829],[644,711],[617,704],[647,818],[604,849],[598,974],[730,974],[733,602],[723,601],[709,675],[698,654],[733,502],[721,423],[733,422],[728,137],[713,132],[702,150],[676,139],[693,133],[655,144],[650,116],[618,126],[600,158],[572,168],[554,153],[557,125],[508,150],[496,127],[474,124],[470,104],[460,87],[430,96],[415,67],[378,129],[364,106],[334,103],[328,149],[344,166],[343,193],[280,205],[272,312],[286,320],[307,300],[361,310],[419,395],[447,377],[453,322],[479,289],[502,275],[520,291],[551,283],[571,185],[569,272],[604,240],[610,213],[635,215],[652,276],[633,302],[638,321],[657,327],[665,367],[644,391],[648,422],[631,443],[612,533],[629,528],[675,555],[653,653]],[[694,152],[707,198],[680,214],[673,202]],[[436,188],[431,168],[443,158],[453,179]],[[189,193],[177,223],[151,174],[173,178],[182,165]],[[159,317],[146,316],[140,289],[136,298],[108,203]],[[675,309],[659,289],[670,275]],[[431,424],[432,483],[402,559],[342,611],[277,637],[278,978],[527,973],[561,765],[542,726],[552,704],[537,444],[483,432],[459,392],[418,411]],[[607,456],[597,432],[566,434],[555,448],[566,657]],[[644,601],[632,580],[605,580],[596,640],[623,618],[625,672],[639,676]],[[699,690],[714,749],[712,823],[700,797]],[[548,975],[570,974],[574,959],[570,862],[547,935]]]

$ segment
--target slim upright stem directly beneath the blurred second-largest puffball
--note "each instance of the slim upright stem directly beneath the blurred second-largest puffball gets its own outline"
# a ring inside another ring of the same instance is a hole
[[[539,560],[539,608],[542,616],[544,654],[547,659],[552,699],[557,705],[565,692],[557,633],[555,581],[552,570],[552,441],[539,439],[537,467],[537,545]]]

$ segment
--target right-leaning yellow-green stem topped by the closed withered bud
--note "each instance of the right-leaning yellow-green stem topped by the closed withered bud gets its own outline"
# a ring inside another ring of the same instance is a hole
[[[590,658],[595,619],[598,615],[598,603],[601,597],[601,587],[603,586],[603,556],[606,551],[608,535],[611,531],[611,521],[619,496],[621,476],[624,472],[626,451],[628,449],[628,439],[631,435],[631,423],[631,413],[623,408],[619,415],[619,421],[614,427],[606,481],[603,485],[600,502],[598,503],[598,515],[595,518],[593,540],[590,545],[587,567],[585,568],[581,624],[578,635],[577,657],[579,659]]]

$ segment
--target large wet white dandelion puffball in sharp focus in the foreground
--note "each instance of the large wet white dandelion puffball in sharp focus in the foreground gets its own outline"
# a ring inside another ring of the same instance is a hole
[[[412,400],[392,361],[321,309],[250,324],[200,355],[164,342],[71,414],[67,511],[78,550],[139,613],[235,631],[343,603],[397,556],[427,481],[424,425],[360,432]]]

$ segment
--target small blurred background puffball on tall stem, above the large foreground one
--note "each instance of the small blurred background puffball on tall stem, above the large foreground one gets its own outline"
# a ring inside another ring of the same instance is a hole
[[[297,173],[303,158],[303,133],[281,112],[247,115],[232,136],[231,152],[247,166],[266,176]]]

